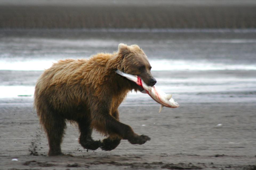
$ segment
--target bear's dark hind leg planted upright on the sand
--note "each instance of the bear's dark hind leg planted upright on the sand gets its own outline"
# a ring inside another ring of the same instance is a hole
[[[54,115],[54,113],[52,113]],[[53,116],[54,117],[54,116]],[[66,128],[66,122],[61,117],[54,117],[47,121],[44,125],[48,143],[49,143],[49,156],[64,155],[61,152],[61,142]]]

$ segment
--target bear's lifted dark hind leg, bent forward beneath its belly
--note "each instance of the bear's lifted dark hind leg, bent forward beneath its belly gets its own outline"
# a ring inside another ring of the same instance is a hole
[[[87,118],[80,119],[78,122],[78,127],[80,130],[79,143],[85,149],[96,150],[102,146],[102,142],[94,141],[91,138],[92,129],[90,128],[90,121]]]

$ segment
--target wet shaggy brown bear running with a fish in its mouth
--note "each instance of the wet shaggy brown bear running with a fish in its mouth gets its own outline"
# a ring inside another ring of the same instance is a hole
[[[139,75],[154,86],[151,66],[138,45],[119,44],[118,52],[99,53],[85,60],[61,60],[45,70],[37,80],[34,107],[49,143],[49,156],[63,155],[61,142],[66,120],[76,122],[80,130],[79,143],[85,148],[113,150],[121,139],[131,144],[144,144],[150,138],[134,133],[119,122],[118,106],[129,91],[142,91],[136,83],[115,73],[121,70]],[[94,141],[92,130],[107,136]]]

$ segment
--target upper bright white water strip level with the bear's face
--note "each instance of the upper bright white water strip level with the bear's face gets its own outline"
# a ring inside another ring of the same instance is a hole
[[[213,63],[205,60],[149,60],[152,66],[152,71],[207,71],[207,70],[256,70],[256,64],[226,64],[226,63]],[[57,60],[38,60],[38,59],[18,59],[0,60],[0,70],[45,70],[51,67]]]

